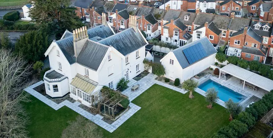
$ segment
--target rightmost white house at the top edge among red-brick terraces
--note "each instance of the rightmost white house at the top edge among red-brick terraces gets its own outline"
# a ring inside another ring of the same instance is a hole
[[[196,1],[196,9],[200,8],[202,13],[206,13],[207,9],[214,9],[214,11],[215,11],[215,7],[216,7],[215,0],[199,0],[199,1]]]

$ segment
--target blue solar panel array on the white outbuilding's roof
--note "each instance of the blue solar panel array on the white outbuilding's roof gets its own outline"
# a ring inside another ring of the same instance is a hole
[[[194,44],[189,48],[183,49],[182,51],[190,64],[207,56],[201,43]]]

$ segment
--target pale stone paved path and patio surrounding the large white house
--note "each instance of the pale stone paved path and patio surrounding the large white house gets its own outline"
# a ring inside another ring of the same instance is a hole
[[[32,86],[29,86],[29,87],[25,88],[24,90],[26,92],[28,92],[29,94],[33,95],[34,97],[36,97],[37,99],[39,99],[40,101],[44,102],[48,106],[52,107],[55,110],[58,110],[63,106],[67,106],[68,108],[74,110],[75,112],[81,114],[82,116],[86,117],[90,121],[94,122],[95,124],[99,125],[100,127],[104,128],[107,131],[112,133],[119,126],[121,126],[127,119],[129,119],[131,116],[133,116],[134,113],[136,113],[139,109],[141,109],[141,107],[131,103],[131,101],[133,99],[135,99],[137,96],[139,96],[140,94],[142,94],[145,90],[147,90],[153,84],[156,83],[156,84],[165,86],[167,88],[170,88],[172,90],[176,90],[176,91],[178,91],[180,93],[183,93],[183,94],[186,93],[184,90],[182,90],[180,88],[177,88],[177,87],[174,87],[174,86],[171,86],[171,85],[168,85],[168,84],[165,84],[163,82],[159,82],[159,81],[155,80],[156,77],[157,77],[156,75],[153,75],[153,74],[150,73],[147,76],[145,76],[144,78],[140,79],[139,81],[136,81],[136,80],[133,80],[133,79],[130,80],[130,82],[128,83],[129,88],[122,92],[122,94],[129,97],[129,100],[130,100],[129,106],[130,106],[130,108],[125,114],[123,114],[121,117],[119,117],[111,125],[106,123],[105,121],[102,121],[103,116],[101,116],[99,114],[94,116],[91,113],[87,112],[86,110],[80,108],[79,105],[81,103],[78,102],[78,101],[76,101],[74,103],[71,103],[71,102],[65,100],[65,101],[61,102],[60,104],[56,104],[52,100],[46,98],[44,95],[42,95],[39,92],[33,90],[33,88],[43,84],[44,81],[37,82],[37,83],[33,84]],[[134,85],[134,84],[140,84],[140,87],[136,91],[131,91],[131,86]]]

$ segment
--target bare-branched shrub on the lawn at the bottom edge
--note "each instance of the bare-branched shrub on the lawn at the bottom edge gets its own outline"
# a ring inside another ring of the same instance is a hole
[[[68,121],[69,125],[63,130],[62,138],[100,138],[102,132],[98,126],[78,115],[75,121]]]

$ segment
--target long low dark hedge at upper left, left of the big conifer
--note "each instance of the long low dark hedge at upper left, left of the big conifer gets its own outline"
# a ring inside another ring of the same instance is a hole
[[[39,29],[36,24],[15,24],[14,21],[0,20],[0,30],[34,31]]]

